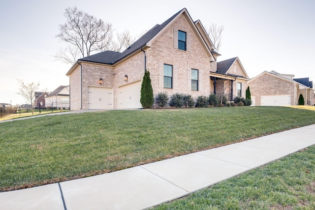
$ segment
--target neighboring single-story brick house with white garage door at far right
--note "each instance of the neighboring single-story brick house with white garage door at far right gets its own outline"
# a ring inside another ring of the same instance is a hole
[[[253,106],[298,105],[300,94],[305,105],[314,105],[313,82],[309,78],[293,79],[292,74],[264,71],[246,83]]]

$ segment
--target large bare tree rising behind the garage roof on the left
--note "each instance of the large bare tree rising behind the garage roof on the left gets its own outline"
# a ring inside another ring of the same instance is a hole
[[[122,43],[113,41],[112,24],[97,19],[77,7],[67,8],[64,12],[66,23],[59,25],[56,37],[68,46],[55,56],[57,60],[74,63],[77,58],[90,56],[93,51],[119,51]]]

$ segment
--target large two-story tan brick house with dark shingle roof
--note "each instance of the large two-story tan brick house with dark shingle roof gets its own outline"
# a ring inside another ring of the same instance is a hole
[[[219,92],[220,79],[228,86],[224,94],[236,95],[237,84],[244,87],[249,78],[238,58],[226,65],[222,61],[224,69],[218,72],[218,56],[201,22],[193,22],[184,8],[122,53],[105,51],[77,60],[66,74],[70,77],[71,110],[141,108],[146,70],[150,71],[154,97],[158,92],[190,94],[195,99],[208,96]],[[245,95],[245,89],[240,91]]]

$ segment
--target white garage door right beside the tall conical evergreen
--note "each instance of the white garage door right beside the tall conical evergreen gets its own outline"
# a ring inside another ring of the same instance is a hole
[[[141,108],[141,81],[118,88],[118,109]]]

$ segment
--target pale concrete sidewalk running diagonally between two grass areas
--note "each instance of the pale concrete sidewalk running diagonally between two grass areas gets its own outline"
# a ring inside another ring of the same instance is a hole
[[[315,144],[315,124],[109,174],[0,193],[2,210],[140,210]]]

